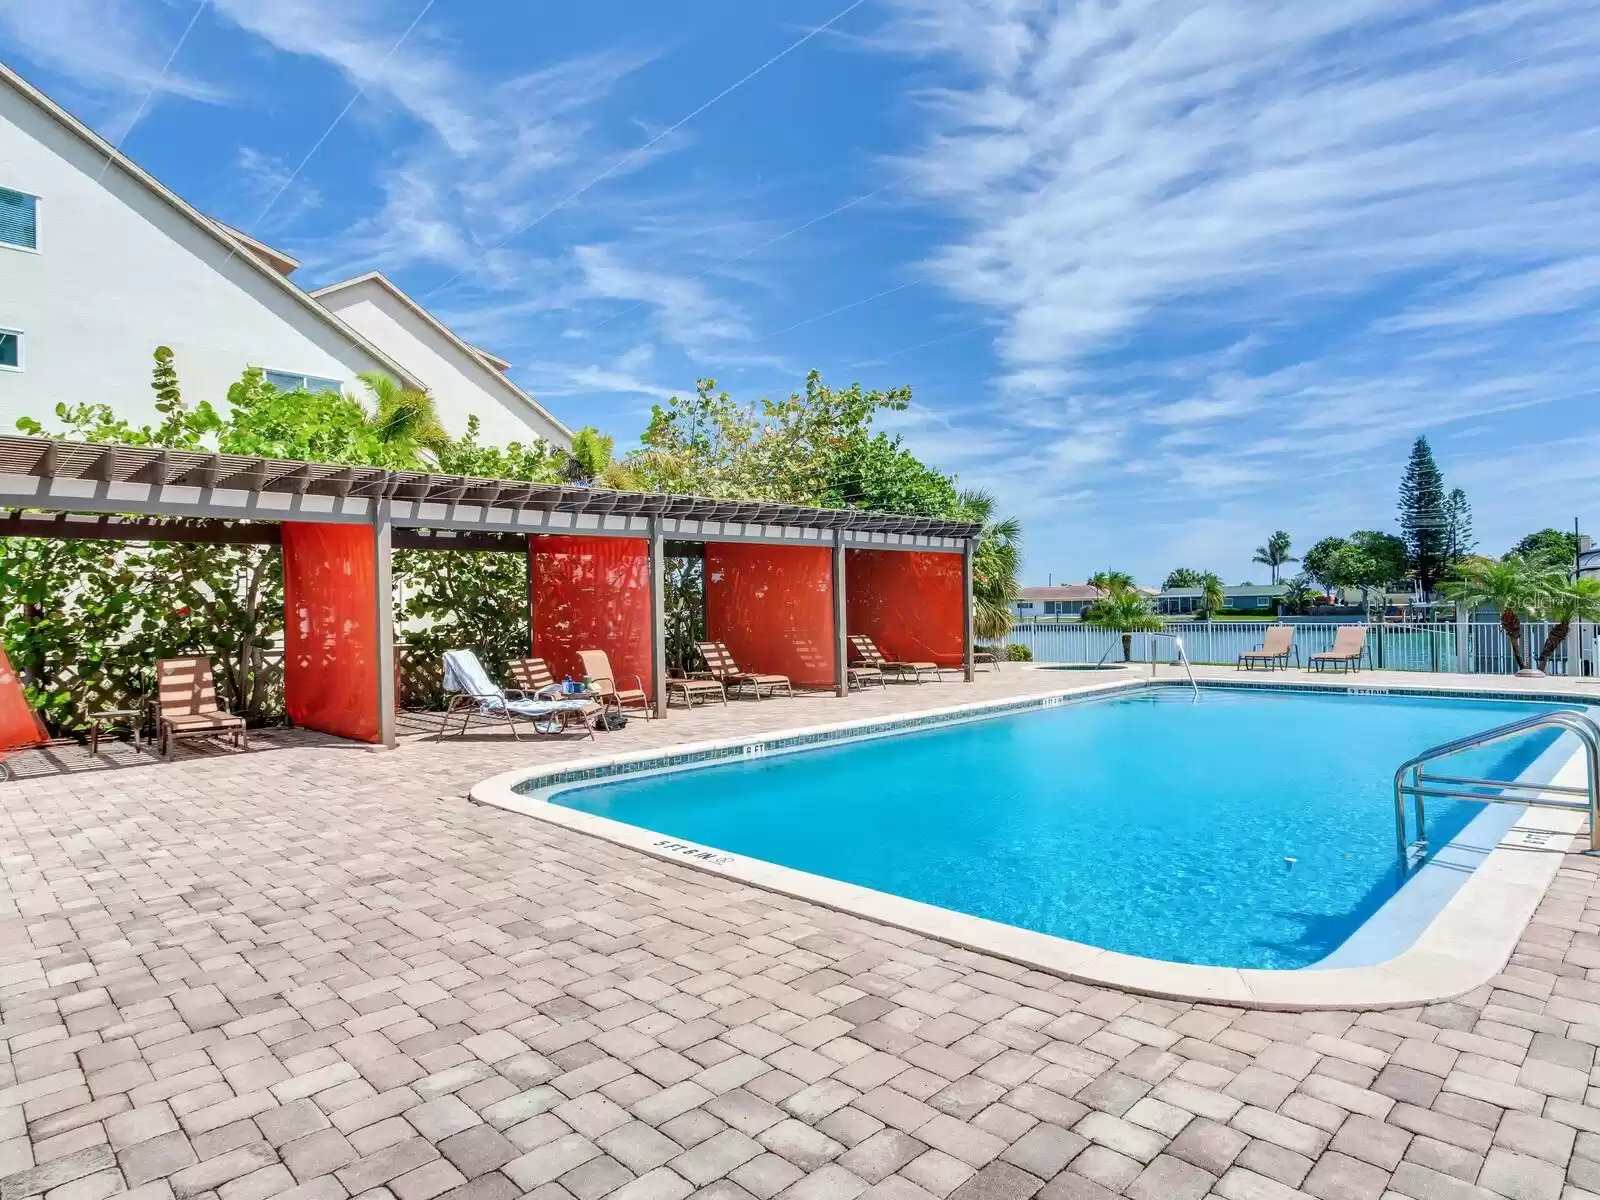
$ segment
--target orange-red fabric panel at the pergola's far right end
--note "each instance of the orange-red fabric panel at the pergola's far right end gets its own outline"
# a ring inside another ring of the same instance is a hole
[[[962,555],[845,550],[845,613],[848,632],[870,637],[888,659],[958,667],[966,627]]]

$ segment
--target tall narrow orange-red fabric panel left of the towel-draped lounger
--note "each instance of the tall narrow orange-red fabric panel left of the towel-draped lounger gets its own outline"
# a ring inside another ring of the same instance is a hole
[[[283,523],[283,699],[307,730],[381,738],[373,526]]]

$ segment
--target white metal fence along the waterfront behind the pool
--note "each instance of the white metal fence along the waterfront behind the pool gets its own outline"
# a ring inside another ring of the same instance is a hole
[[[1266,621],[1181,621],[1166,626],[1168,634],[1184,640],[1190,662],[1219,662],[1232,666],[1246,650],[1261,645]],[[1317,651],[1331,650],[1336,621],[1290,621],[1294,626],[1294,645],[1301,662]],[[1344,622],[1349,624],[1349,622]],[[1522,627],[1523,654],[1534,662],[1544,638],[1550,632],[1549,621],[1528,621]],[[1581,637],[1581,661],[1571,662],[1573,643]],[[1027,646],[1038,662],[1107,662],[1122,659],[1122,635],[1094,629],[1078,621],[1018,621],[1006,635],[1006,643]],[[1464,642],[1464,646],[1462,646]],[[1461,653],[1464,648],[1464,654]],[[1474,621],[1467,624],[1405,626],[1373,624],[1366,635],[1368,659],[1362,666],[1386,670],[1461,670],[1483,675],[1509,675],[1517,670],[1510,640],[1498,621]],[[1134,661],[1176,661],[1176,650],[1168,638],[1152,638],[1147,634],[1133,635]],[[1595,674],[1594,627],[1565,638],[1550,658],[1554,675]],[[1291,658],[1293,664],[1293,658]],[[1571,667],[1578,667],[1576,670]]]

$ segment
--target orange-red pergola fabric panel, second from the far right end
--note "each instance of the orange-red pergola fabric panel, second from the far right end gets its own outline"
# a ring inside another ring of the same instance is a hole
[[[706,544],[706,635],[739,670],[834,683],[834,552],[816,546]]]

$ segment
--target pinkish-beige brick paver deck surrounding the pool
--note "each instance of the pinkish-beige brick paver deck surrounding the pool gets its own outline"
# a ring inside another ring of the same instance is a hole
[[[1328,682],[1424,678],[1560,683]],[[16,755],[0,1200],[1600,1197],[1581,854],[1488,986],[1285,1014],[1069,982],[466,800],[522,765],[1072,683],[1006,667],[595,742]]]

